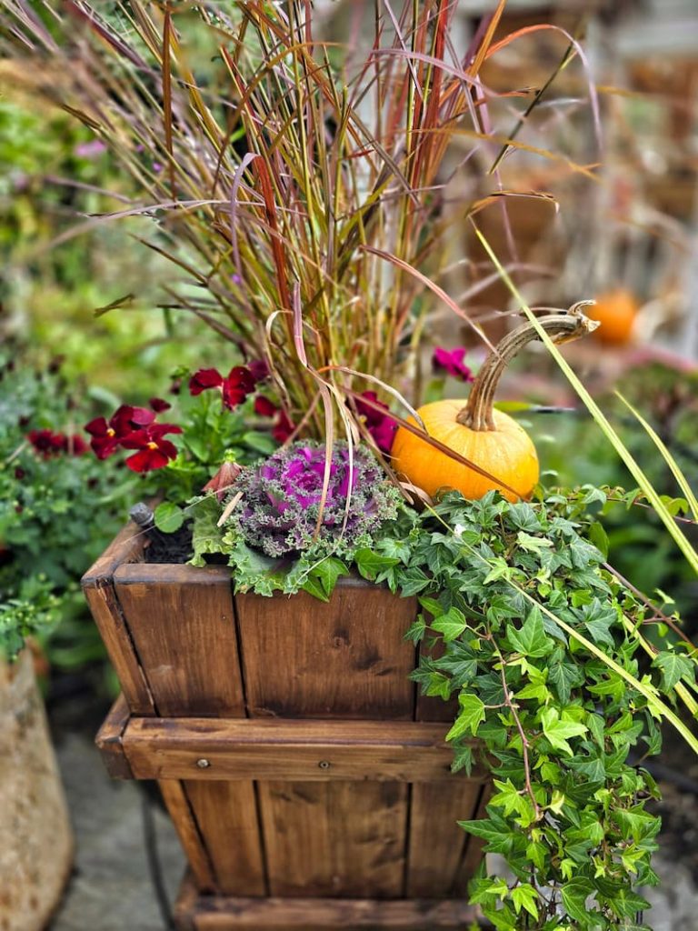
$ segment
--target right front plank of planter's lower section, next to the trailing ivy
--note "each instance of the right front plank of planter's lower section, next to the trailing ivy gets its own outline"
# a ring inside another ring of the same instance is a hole
[[[454,776],[450,784],[412,786],[406,895],[446,898],[453,895],[463,851],[470,835],[457,821],[475,817],[481,785]]]

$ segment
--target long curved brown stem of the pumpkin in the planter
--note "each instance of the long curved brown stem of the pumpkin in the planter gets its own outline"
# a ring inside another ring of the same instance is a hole
[[[582,313],[582,307],[593,301],[580,301],[573,304],[566,314],[550,314],[539,317],[538,323],[549,334],[554,343],[570,343],[586,333],[597,329],[596,320],[590,320]],[[456,420],[471,430],[494,430],[492,405],[503,371],[509,362],[517,356],[531,340],[539,338],[538,331],[532,323],[524,323],[503,337],[490,352],[477,372],[470,396],[465,407],[458,412]]]

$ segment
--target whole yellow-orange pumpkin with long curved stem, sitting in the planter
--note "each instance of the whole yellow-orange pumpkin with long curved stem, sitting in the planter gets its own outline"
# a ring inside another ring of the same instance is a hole
[[[598,326],[579,311],[580,306],[575,304],[567,314],[540,317],[538,323],[556,343],[577,339]],[[457,453],[461,461],[400,426],[391,451],[398,476],[431,497],[453,489],[474,500],[496,489],[509,501],[529,498],[540,474],[533,441],[516,420],[495,411],[493,403],[507,364],[537,338],[532,323],[507,333],[483,362],[467,400],[433,401],[417,411],[429,437]],[[412,417],[408,423],[417,426]]]

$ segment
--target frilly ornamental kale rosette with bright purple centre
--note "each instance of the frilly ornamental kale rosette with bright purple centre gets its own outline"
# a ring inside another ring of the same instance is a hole
[[[299,441],[245,469],[230,492],[242,496],[228,525],[248,546],[271,557],[297,555],[310,547],[348,555],[369,546],[383,522],[396,518],[399,492],[368,450],[355,449],[350,457],[345,443],[335,444],[329,470],[325,456],[324,445]]]

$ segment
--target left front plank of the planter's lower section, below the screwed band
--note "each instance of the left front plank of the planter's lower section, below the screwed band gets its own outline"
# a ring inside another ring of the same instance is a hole
[[[185,790],[196,824],[206,838],[220,892],[263,896],[262,843],[253,784],[187,781]]]

